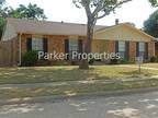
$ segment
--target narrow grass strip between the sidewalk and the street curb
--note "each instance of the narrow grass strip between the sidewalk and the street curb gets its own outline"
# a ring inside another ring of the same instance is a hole
[[[9,88],[0,90],[0,99],[23,98],[52,95],[83,95],[88,93],[101,93],[115,90],[142,88],[158,86],[158,80],[123,82],[115,84],[104,83],[84,83],[77,85],[61,85],[56,87],[36,87],[36,88]]]

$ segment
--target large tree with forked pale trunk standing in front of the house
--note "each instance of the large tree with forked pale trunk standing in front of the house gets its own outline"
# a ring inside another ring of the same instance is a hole
[[[72,0],[77,8],[83,8],[87,14],[87,39],[83,46],[83,52],[91,52],[91,42],[93,38],[93,28],[99,19],[114,12],[123,3],[132,0]],[[81,60],[80,69],[89,69],[87,59]]]

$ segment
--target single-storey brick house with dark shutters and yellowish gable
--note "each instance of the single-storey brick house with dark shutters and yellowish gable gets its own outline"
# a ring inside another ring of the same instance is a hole
[[[9,56],[3,52],[1,56],[5,59],[1,60],[20,64],[22,55],[29,50],[82,52],[86,34],[84,24],[8,19],[0,48],[8,46]],[[153,36],[129,23],[95,26],[92,52],[120,52],[129,61],[144,56],[148,60],[155,56],[154,40]]]

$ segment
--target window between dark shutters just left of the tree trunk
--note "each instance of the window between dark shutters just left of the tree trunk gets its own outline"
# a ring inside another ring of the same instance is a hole
[[[75,58],[75,57],[72,57],[74,51],[77,51],[77,52],[79,51],[78,40],[69,39],[69,56],[70,56],[70,58]]]

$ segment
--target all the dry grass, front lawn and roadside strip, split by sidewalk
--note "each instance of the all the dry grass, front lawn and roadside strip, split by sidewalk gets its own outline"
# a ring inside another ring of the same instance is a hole
[[[158,70],[142,70],[142,76],[157,74]],[[49,95],[72,96],[105,91],[158,86],[158,79],[140,81],[137,80],[139,78],[138,69],[116,66],[94,66],[89,70],[79,70],[78,67],[0,68],[0,84],[136,79],[136,81],[116,81],[111,84],[88,82],[52,87],[0,88],[0,99]]]

